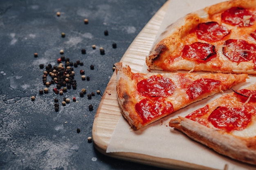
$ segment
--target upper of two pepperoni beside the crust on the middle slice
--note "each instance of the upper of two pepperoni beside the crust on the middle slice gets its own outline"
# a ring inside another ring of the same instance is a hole
[[[175,88],[173,81],[162,75],[153,75],[137,84],[139,93],[152,97],[168,97],[173,94]]]

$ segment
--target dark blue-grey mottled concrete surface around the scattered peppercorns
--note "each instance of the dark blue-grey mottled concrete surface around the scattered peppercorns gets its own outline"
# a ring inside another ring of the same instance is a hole
[[[0,0],[0,170],[159,169],[106,157],[88,142],[101,95],[92,99],[87,95],[105,91],[113,64],[164,2]],[[114,42],[116,49],[112,48]],[[96,49],[92,49],[93,44]],[[105,55],[100,54],[100,47]],[[39,90],[45,88],[45,67],[57,66],[61,56],[70,62],[83,62],[83,66],[73,66],[76,89],[68,89],[61,96],[54,93],[56,84],[52,84],[49,93],[40,95]],[[43,69],[40,64],[44,64]],[[90,65],[94,65],[93,70]],[[81,69],[90,80],[81,79]],[[79,94],[82,88],[86,89],[84,97]],[[34,101],[31,96],[36,97]],[[64,97],[71,100],[66,106],[61,104]],[[59,100],[58,112],[55,98]]]

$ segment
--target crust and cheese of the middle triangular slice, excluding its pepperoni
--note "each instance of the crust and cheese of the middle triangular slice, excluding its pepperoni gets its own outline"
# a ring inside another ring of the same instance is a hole
[[[154,117],[150,121],[144,122],[139,114],[135,110],[135,104],[137,104],[139,101],[144,99],[145,97],[142,95],[139,95],[137,92],[137,82],[139,81],[136,79],[136,76],[134,79],[132,79],[132,76],[134,73],[131,72],[131,69],[129,66],[123,66],[122,63],[116,63],[116,73],[117,73],[117,99],[119,102],[119,106],[121,108],[122,115],[126,118],[130,126],[138,130],[139,128],[142,128],[166,115],[169,115],[171,113],[163,113],[160,117]],[[137,73],[140,77],[140,79],[146,79],[150,77],[151,75],[157,75],[158,73]],[[234,86],[240,82],[245,82],[247,77],[247,74],[241,74],[241,75],[233,75],[233,74],[196,74],[196,73],[162,73],[164,77],[168,77],[173,80],[176,86],[175,92],[169,96],[166,97],[166,101],[171,102],[173,104],[173,111],[179,110],[180,108],[183,108],[185,106],[188,106],[189,104],[193,102],[197,102],[199,100],[202,100],[210,95],[225,91],[231,86]],[[184,89],[184,84],[186,82],[183,82],[183,84],[180,83],[180,77],[183,77],[184,79],[190,79],[191,81],[194,81],[196,79],[200,78],[211,78],[211,79],[217,79],[221,81],[220,86],[213,89],[213,91],[209,93],[204,93],[198,98],[190,99],[189,96],[186,94],[186,89]]]

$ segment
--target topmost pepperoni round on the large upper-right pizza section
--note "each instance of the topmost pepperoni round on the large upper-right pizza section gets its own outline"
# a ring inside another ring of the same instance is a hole
[[[255,18],[247,9],[232,7],[221,14],[221,20],[233,26],[246,27],[253,25]]]

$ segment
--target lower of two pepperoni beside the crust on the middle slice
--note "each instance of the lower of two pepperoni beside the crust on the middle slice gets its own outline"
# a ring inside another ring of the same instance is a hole
[[[144,122],[148,122],[162,114],[173,113],[173,105],[163,97],[151,97],[135,104],[135,110]]]

